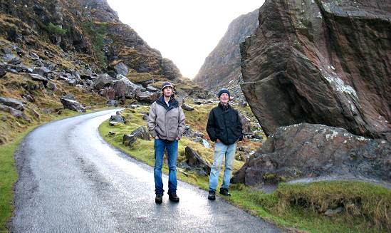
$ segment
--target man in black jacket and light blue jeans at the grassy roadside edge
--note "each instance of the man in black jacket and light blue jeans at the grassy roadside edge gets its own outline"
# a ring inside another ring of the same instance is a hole
[[[243,139],[239,113],[229,105],[229,90],[222,88],[217,95],[220,103],[209,113],[207,133],[214,144],[214,161],[209,176],[209,200],[216,200],[216,188],[219,181],[221,164],[225,157],[223,183],[220,194],[230,196],[229,180],[232,173],[236,142]]]

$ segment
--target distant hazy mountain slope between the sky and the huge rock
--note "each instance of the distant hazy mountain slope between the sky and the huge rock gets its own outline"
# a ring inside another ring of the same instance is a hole
[[[205,58],[204,64],[194,77],[196,83],[215,92],[221,87],[226,87],[231,90],[233,96],[243,95],[238,86],[241,75],[239,44],[246,36],[254,33],[258,26],[258,14],[259,9],[256,9],[239,16],[229,24],[225,35]]]

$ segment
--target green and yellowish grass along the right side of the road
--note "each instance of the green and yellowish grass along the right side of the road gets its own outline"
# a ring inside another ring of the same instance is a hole
[[[208,109],[214,105],[193,106],[196,110],[185,112],[187,124],[193,129],[204,132],[203,119],[209,112]],[[123,115],[129,119],[126,125],[110,127],[108,121],[105,121],[100,125],[99,132],[108,143],[135,159],[153,166],[155,162],[153,140],[137,138],[137,143],[133,147],[122,145],[123,134],[130,133],[140,125],[146,125],[142,120],[141,112],[147,111],[148,107],[125,110]],[[109,131],[115,132],[115,135],[109,135]],[[184,147],[187,145],[197,150],[205,160],[212,162],[212,149],[206,149],[187,138],[179,141],[178,162],[185,160]],[[238,170],[241,165],[243,162],[235,160],[234,170]],[[204,190],[208,189],[208,177],[185,172],[179,167],[177,171],[179,180],[197,185]],[[164,165],[163,172],[168,172],[167,165]],[[391,191],[365,182],[333,181],[295,185],[281,183],[271,194],[265,194],[245,185],[231,185],[230,190],[231,197],[224,197],[228,202],[284,229],[294,228],[308,232],[389,232],[391,230]],[[335,209],[339,206],[345,207],[345,211],[335,217],[326,217],[323,214],[327,209]]]

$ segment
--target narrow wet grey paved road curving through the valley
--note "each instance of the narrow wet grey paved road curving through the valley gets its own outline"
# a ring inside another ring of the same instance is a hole
[[[12,232],[279,232],[207,192],[178,183],[179,203],[155,204],[152,167],[103,141],[115,110],[33,130],[16,152]],[[167,187],[167,176],[164,177]]]

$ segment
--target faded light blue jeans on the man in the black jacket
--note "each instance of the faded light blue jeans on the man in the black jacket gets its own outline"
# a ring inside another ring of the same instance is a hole
[[[225,157],[225,168],[223,176],[223,184],[221,188],[228,189],[229,181],[231,180],[232,174],[232,162],[234,162],[236,150],[236,143],[231,145],[225,145],[224,143],[214,144],[214,160],[212,169],[210,170],[209,176],[209,190],[216,192],[217,182],[219,182],[219,173],[221,164]]]

